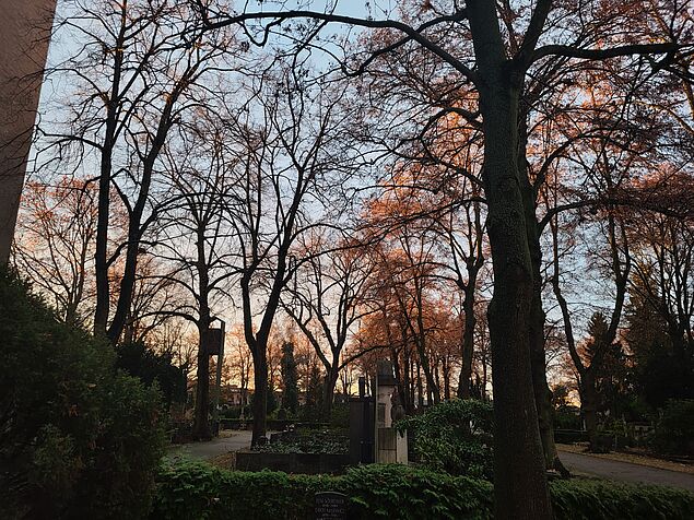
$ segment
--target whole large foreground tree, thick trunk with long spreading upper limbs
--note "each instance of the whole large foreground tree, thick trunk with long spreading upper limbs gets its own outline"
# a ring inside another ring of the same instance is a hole
[[[532,184],[522,161],[527,141],[519,134],[526,78],[537,67],[557,60],[607,60],[677,52],[682,48],[674,40],[677,36],[661,34],[657,43],[652,43],[652,34],[645,35],[644,24],[638,23],[642,16],[648,15],[644,10],[638,10],[630,24],[631,20],[622,20],[623,10],[615,15],[610,10],[587,9],[584,4],[574,9],[555,5],[551,0],[540,0],[532,8],[482,0],[469,0],[464,8],[458,2],[426,2],[423,10],[420,8],[420,15],[411,19],[417,25],[409,23],[407,17],[404,21],[360,19],[334,11],[230,14],[208,9],[202,2],[198,5],[211,28],[256,22],[252,28],[267,34],[285,20],[316,21],[306,29],[303,46],[311,44],[322,25],[329,22],[389,28],[396,36],[376,50],[369,49],[357,72],[373,64],[378,56],[416,47],[445,62],[450,74],[474,85],[479,109],[458,108],[458,111],[477,120],[484,134],[483,179],[495,280],[489,309],[496,373],[495,508],[498,518],[551,518],[532,377],[531,334],[538,324],[533,312],[538,316],[540,312],[537,304],[533,305],[537,298],[531,248],[539,243],[539,236],[526,218],[534,211],[536,203],[532,189],[528,189]],[[417,2],[417,5],[421,4]],[[591,13],[588,19],[586,12]],[[270,23],[258,27],[258,21],[263,20]],[[625,26],[631,28],[628,36]],[[432,27],[446,27],[446,37],[432,37]],[[459,34],[461,38],[456,38]],[[648,43],[634,43],[644,40]],[[609,44],[597,47],[596,42]],[[543,335],[543,328],[540,334]]]

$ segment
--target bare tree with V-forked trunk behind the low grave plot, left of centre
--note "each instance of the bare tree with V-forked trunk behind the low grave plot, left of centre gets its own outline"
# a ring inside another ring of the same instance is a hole
[[[299,67],[261,78],[252,93],[257,104],[237,127],[245,156],[239,203],[228,220],[239,240],[235,269],[254,357],[254,444],[266,434],[268,341],[281,293],[306,261],[292,262],[292,249],[301,236],[327,225],[328,211],[337,213],[328,197],[351,170],[339,131],[350,121],[341,92],[320,92],[303,78]]]

